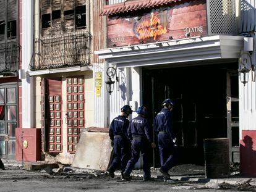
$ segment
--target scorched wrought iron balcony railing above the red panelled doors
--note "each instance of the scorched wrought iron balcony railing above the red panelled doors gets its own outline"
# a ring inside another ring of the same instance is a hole
[[[37,38],[30,70],[90,65],[90,39],[88,31]]]

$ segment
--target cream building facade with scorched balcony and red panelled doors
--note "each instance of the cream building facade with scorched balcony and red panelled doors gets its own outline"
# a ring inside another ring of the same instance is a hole
[[[101,61],[92,51],[103,48],[98,6],[103,2],[23,2],[24,113],[17,133],[23,138],[16,159],[38,161],[50,154],[71,164],[80,132],[93,127],[93,71]]]

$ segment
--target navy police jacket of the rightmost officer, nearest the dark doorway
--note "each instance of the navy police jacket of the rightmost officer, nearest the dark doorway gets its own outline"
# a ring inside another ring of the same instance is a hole
[[[154,128],[158,134],[160,131],[164,131],[169,135],[171,139],[174,139],[173,133],[173,117],[172,112],[167,108],[163,108],[155,117]]]

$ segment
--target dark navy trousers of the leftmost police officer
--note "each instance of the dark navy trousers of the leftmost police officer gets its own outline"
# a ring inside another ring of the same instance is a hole
[[[130,144],[124,138],[114,138],[114,156],[109,166],[113,172],[121,165],[121,171],[126,170],[127,162],[130,159]]]

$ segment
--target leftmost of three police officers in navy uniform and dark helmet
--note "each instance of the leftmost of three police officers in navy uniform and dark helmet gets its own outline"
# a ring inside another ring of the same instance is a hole
[[[110,177],[114,177],[114,171],[121,164],[121,172],[126,169],[126,164],[130,158],[130,141],[127,138],[127,129],[129,120],[127,117],[132,114],[130,106],[125,105],[121,108],[121,115],[114,118],[109,127],[109,138],[113,143],[114,156],[111,165],[109,165],[108,173]]]

